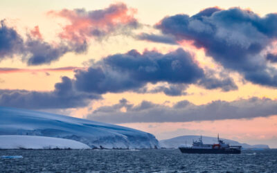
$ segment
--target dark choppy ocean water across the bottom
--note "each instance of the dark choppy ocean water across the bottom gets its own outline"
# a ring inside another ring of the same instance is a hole
[[[0,172],[277,172],[277,149],[182,154],[178,149],[0,150]]]

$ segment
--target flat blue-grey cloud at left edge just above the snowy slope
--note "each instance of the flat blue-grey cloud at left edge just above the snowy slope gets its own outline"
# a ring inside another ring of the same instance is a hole
[[[76,91],[67,77],[55,84],[54,91],[39,92],[26,90],[0,90],[1,107],[18,107],[26,109],[66,109],[85,107],[100,95]]]

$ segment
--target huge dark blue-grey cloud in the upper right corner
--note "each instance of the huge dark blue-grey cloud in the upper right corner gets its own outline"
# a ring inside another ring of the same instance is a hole
[[[225,69],[254,84],[277,86],[277,70],[266,60],[273,59],[262,54],[276,40],[276,14],[260,17],[240,8],[207,8],[191,17],[165,17],[155,27],[176,42],[193,41]]]

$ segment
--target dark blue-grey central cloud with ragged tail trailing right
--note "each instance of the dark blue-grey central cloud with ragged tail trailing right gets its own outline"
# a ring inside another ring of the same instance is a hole
[[[145,87],[148,83],[157,82],[166,82],[168,85],[154,89]],[[193,61],[192,55],[181,48],[166,54],[157,51],[141,54],[132,50],[125,54],[109,55],[88,70],[79,70],[75,74],[77,89],[91,93],[135,91],[184,95],[188,84],[200,84],[207,89],[222,88],[223,91],[238,89],[229,78],[222,80],[206,76],[204,70]]]

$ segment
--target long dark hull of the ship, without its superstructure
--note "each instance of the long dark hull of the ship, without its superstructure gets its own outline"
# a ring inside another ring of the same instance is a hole
[[[197,149],[188,147],[179,147],[182,153],[188,154],[240,154],[240,149]]]

